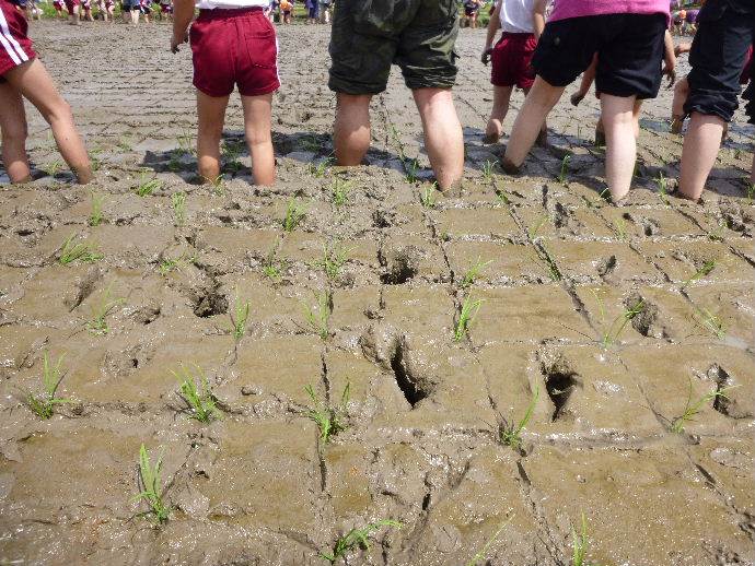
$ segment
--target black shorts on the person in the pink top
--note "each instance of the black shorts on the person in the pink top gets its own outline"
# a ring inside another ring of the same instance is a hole
[[[665,14],[607,14],[548,22],[532,66],[566,86],[597,54],[595,89],[613,96],[654,98],[661,87]]]

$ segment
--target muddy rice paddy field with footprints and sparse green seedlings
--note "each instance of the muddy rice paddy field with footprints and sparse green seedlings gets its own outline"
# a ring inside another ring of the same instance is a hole
[[[292,26],[279,182],[249,186],[236,99],[224,178],[204,187],[190,57],[167,51],[167,26],[32,34],[98,180],[94,196],[70,182],[32,113],[39,178],[0,187],[0,564],[326,564],[373,524],[339,563],[568,565],[582,516],[585,564],[754,564],[743,115],[701,205],[659,189],[682,149],[666,91],[627,205],[600,197],[592,96],[561,103],[553,148],[503,176],[481,143],[484,32],[464,31],[467,168],[443,197],[398,73],[374,101],[370,165],[322,164],[327,30]],[[77,244],[89,256],[63,264]],[[46,353],[69,402],[43,420],[28,394]],[[208,424],[178,396],[177,375],[202,374]],[[316,406],[344,427],[327,443]],[[161,526],[135,499],[142,444],[162,456]]]

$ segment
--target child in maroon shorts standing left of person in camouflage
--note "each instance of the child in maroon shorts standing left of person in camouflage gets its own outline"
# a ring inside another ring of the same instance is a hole
[[[204,182],[220,178],[220,139],[225,109],[239,87],[246,143],[258,185],[276,178],[270,115],[278,79],[276,28],[265,15],[268,0],[175,0],[171,50],[190,37],[197,89],[197,165]],[[191,25],[190,34],[188,32]]]

